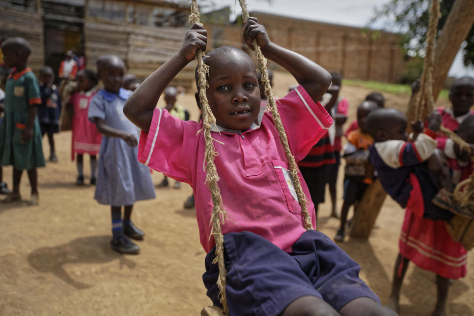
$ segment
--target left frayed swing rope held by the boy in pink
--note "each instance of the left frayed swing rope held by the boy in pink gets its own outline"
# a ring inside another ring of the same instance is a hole
[[[191,15],[189,16],[189,23],[191,25],[199,22],[199,8],[197,7],[196,0],[192,0],[191,3]],[[214,237],[216,242],[216,257],[214,258],[213,263],[217,263],[219,267],[219,278],[217,280],[217,286],[220,291],[220,301],[224,307],[224,312],[229,315],[229,307],[227,306],[226,299],[226,266],[224,261],[224,235],[221,231],[221,220],[224,223],[224,220],[227,217],[227,212],[224,209],[222,203],[221,192],[217,186],[217,181],[219,181],[219,176],[217,175],[216,165],[214,164],[214,158],[217,156],[217,153],[214,149],[212,143],[212,136],[210,127],[211,124],[216,124],[216,118],[212,114],[211,108],[207,101],[206,88],[208,86],[206,76],[209,73],[209,67],[204,64],[202,61],[202,56],[204,52],[198,50],[196,53],[197,58],[197,77],[198,77],[198,86],[199,86],[199,102],[202,109],[202,129],[204,133],[205,141],[205,153],[204,153],[204,168],[206,169],[206,182],[207,187],[211,192],[212,204],[212,216],[211,224],[212,230],[211,234]]]

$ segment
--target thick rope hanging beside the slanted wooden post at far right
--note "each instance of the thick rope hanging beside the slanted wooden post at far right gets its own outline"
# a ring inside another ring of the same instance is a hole
[[[431,113],[435,109],[435,99],[433,97],[433,65],[435,63],[435,38],[440,16],[439,1],[432,0],[430,22],[427,32],[426,56],[420,79],[420,90],[416,93],[409,105],[409,107],[414,107],[416,119],[423,117],[423,110],[425,110],[426,113]],[[451,138],[454,143],[458,144],[461,151],[471,152],[470,145],[458,134],[443,125],[439,127],[439,130]],[[463,187],[466,187],[464,191],[462,191]],[[474,172],[469,178],[458,183],[454,190],[454,197],[462,206],[474,205]]]

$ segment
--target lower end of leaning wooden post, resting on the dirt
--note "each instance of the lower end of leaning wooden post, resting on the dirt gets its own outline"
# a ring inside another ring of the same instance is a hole
[[[380,180],[375,180],[367,188],[357,207],[356,215],[352,221],[351,237],[368,238],[370,236],[385,197],[387,197],[387,193],[382,188]]]

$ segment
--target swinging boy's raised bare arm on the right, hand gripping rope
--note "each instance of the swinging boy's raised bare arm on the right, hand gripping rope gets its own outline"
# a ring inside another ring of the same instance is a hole
[[[331,84],[331,75],[326,70],[308,58],[273,43],[265,27],[258,24],[254,17],[248,19],[243,35],[251,49],[254,48],[253,39],[257,39],[265,57],[289,71],[315,102],[321,99]]]

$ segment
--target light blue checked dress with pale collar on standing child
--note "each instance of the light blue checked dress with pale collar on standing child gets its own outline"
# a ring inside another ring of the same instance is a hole
[[[137,127],[123,114],[123,105],[131,91],[120,88],[116,93],[99,90],[90,100],[88,118],[135,135]],[[137,161],[137,147],[130,147],[118,137],[103,135],[97,168],[94,198],[111,206],[133,205],[135,201],[155,198],[150,170]]]

